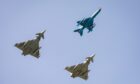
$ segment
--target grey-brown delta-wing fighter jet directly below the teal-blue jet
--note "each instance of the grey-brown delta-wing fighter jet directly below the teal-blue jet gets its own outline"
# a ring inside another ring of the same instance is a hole
[[[88,65],[90,64],[90,62],[93,62],[94,56],[95,56],[95,54],[91,57],[87,57],[86,60],[81,64],[67,66],[65,68],[65,70],[70,72],[72,78],[80,77],[84,80],[87,80],[88,72],[90,71],[90,70],[88,70]]]

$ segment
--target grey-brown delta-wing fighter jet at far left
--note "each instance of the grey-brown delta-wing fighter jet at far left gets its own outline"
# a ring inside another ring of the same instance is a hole
[[[28,41],[25,41],[25,42],[16,43],[15,47],[22,50],[22,55],[24,55],[24,56],[30,54],[30,55],[32,55],[36,58],[39,58],[40,57],[39,50],[41,48],[39,46],[39,41],[40,41],[41,38],[44,39],[45,31],[43,31],[41,33],[37,33],[35,39],[28,40]]]

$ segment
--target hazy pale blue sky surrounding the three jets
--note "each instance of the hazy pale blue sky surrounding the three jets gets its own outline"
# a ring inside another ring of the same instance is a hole
[[[140,84],[139,0],[0,0],[0,84]],[[93,32],[76,22],[102,8]],[[40,58],[15,43],[46,29]],[[71,78],[66,66],[96,53],[89,79]]]

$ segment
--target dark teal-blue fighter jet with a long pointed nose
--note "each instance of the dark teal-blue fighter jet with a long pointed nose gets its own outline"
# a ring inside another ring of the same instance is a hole
[[[77,21],[77,26],[80,27],[80,29],[76,29],[74,30],[74,32],[78,32],[80,36],[83,35],[83,30],[85,28],[88,29],[88,33],[91,32],[95,27],[94,19],[100,13],[100,11],[101,8],[99,8],[95,13],[93,13],[91,17],[84,18],[83,20]]]

